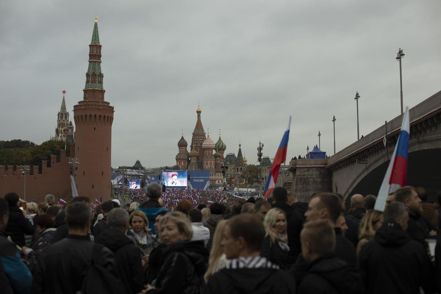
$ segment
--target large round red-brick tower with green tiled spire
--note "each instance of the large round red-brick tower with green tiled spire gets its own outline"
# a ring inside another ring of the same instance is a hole
[[[104,100],[101,47],[98,22],[95,18],[89,45],[89,67],[83,100],[74,106],[75,157],[80,164],[75,182],[78,195],[101,201],[111,195],[111,150],[113,106]],[[73,157],[73,156],[72,156]]]

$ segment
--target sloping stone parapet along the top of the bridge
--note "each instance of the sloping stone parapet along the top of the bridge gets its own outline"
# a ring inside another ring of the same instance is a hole
[[[433,112],[437,109],[441,108],[441,91],[438,93],[435,93],[431,97],[427,98],[426,100],[422,101],[415,107],[412,107],[409,109],[409,119],[410,123],[412,124],[412,121],[418,120],[419,118],[428,115],[430,112]],[[401,127],[401,116],[398,115],[396,118],[392,119],[387,123],[387,131],[388,134],[391,134],[395,130],[400,129]],[[367,134],[363,138],[360,138],[360,140],[355,141],[348,147],[340,150],[335,155],[328,158],[328,164],[332,164],[333,162],[340,160],[344,156],[347,156],[359,149],[362,149],[364,146],[369,145],[370,143],[383,138],[385,136],[385,125],[383,124],[381,127],[377,128],[370,134]]]

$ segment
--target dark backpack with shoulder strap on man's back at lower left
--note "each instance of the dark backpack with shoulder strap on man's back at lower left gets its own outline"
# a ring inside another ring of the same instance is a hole
[[[93,244],[92,258],[84,272],[81,293],[125,294],[126,290],[120,279],[100,264],[99,258],[103,247],[101,244]]]

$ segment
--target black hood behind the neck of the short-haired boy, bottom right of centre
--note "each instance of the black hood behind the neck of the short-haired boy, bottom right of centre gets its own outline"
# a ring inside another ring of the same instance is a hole
[[[313,261],[307,274],[320,275],[338,291],[338,293],[364,293],[362,280],[354,265],[336,257],[333,253],[325,254]],[[306,275],[307,275],[306,274]]]

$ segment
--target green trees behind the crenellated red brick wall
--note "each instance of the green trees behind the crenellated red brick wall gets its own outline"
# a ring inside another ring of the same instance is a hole
[[[64,149],[64,141],[45,141],[35,145],[30,141],[11,140],[0,141],[0,165],[39,165],[41,160],[48,160],[56,155],[60,160],[60,149]],[[70,145],[66,146],[66,155],[69,155]]]

